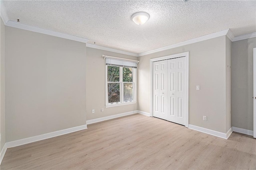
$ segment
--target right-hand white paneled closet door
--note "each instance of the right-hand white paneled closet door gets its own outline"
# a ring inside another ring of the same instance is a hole
[[[168,121],[185,125],[186,57],[168,59]]]

